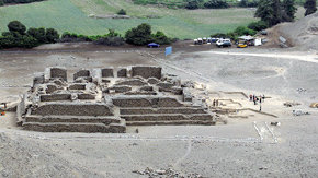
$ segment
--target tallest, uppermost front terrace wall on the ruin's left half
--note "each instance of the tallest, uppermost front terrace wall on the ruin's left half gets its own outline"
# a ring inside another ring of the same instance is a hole
[[[32,115],[113,116],[113,111],[99,104],[47,104],[33,110]]]

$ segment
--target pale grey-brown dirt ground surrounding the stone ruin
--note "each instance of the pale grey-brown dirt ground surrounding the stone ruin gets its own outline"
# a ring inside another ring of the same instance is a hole
[[[226,92],[265,95],[263,111],[276,117],[246,111],[253,117],[229,118],[226,126],[138,127],[139,133],[130,127],[126,134],[88,134],[23,131],[15,114],[8,112],[0,117],[0,177],[149,177],[133,173],[147,167],[171,168],[185,177],[317,177],[318,110],[309,108],[318,102],[317,54],[190,44],[177,44],[167,58],[162,48],[87,44],[2,51],[0,103],[19,98],[46,67],[66,67],[71,74],[80,68],[151,64],[247,108],[259,106]],[[300,105],[287,108],[285,102]],[[293,110],[310,115],[294,116]]]

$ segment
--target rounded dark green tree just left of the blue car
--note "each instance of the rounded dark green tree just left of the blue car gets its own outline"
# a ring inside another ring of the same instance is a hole
[[[151,41],[151,26],[149,24],[141,24],[132,28],[125,34],[126,43],[137,46],[147,45]]]

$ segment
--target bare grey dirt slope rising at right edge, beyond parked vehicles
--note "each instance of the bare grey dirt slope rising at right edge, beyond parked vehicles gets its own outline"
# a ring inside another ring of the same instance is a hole
[[[289,39],[293,46],[300,49],[318,49],[318,13],[308,15],[294,23],[283,23],[276,26],[279,34]]]

